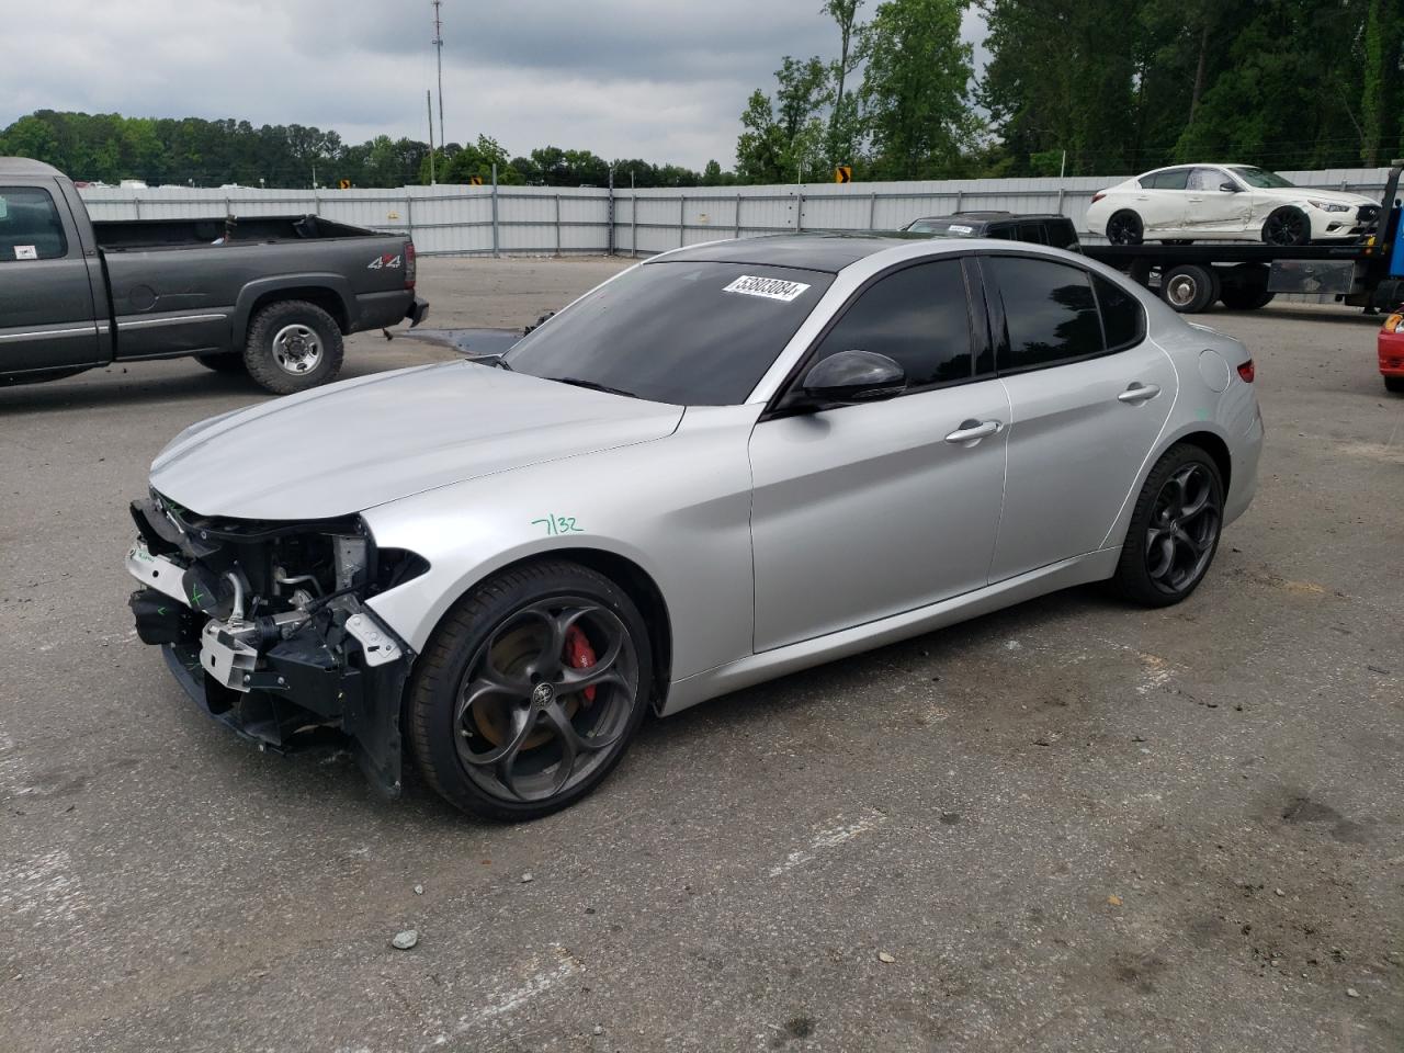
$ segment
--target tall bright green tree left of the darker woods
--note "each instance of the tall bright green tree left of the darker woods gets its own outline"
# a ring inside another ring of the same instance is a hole
[[[973,52],[960,39],[965,7],[962,0],[887,0],[863,31],[861,95],[880,177],[953,173],[974,143]]]

